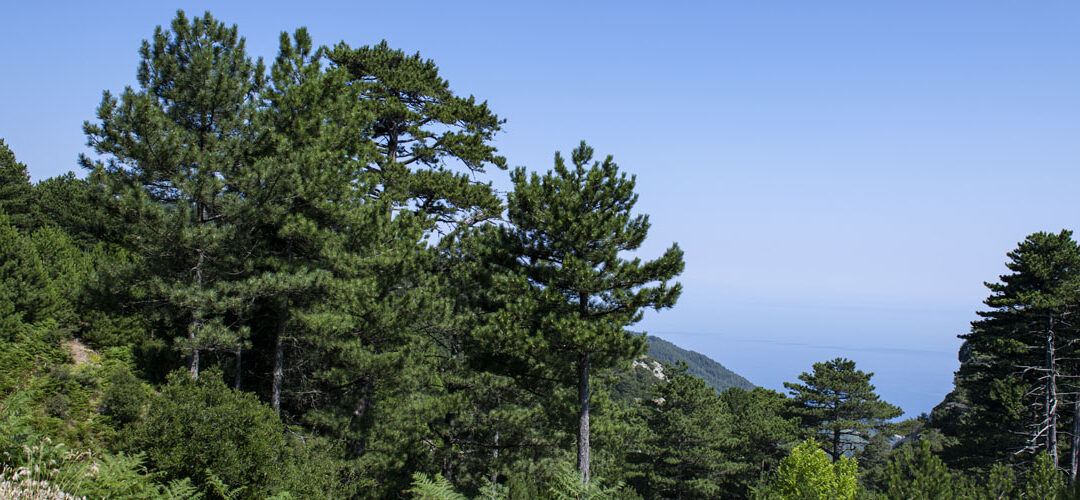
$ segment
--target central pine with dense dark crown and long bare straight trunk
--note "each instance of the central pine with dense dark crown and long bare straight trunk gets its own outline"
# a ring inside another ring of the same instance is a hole
[[[681,287],[667,282],[683,270],[678,245],[648,262],[621,257],[645,241],[648,217],[631,214],[634,178],[619,173],[611,157],[592,158],[582,141],[571,166],[556,153],[554,171],[543,176],[524,168],[511,175],[512,226],[500,230],[499,251],[508,278],[500,286],[516,298],[491,330],[504,350],[527,353],[563,374],[570,366],[577,371],[578,469],[585,483],[591,371],[644,351],[645,337],[625,328],[644,308],[674,306]]]

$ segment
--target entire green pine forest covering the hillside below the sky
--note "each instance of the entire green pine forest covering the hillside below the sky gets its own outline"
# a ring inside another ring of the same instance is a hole
[[[384,41],[264,62],[181,11],[138,54],[81,173],[0,139],[2,498],[1080,498],[1067,230],[1004,255],[930,414],[843,357],[718,392],[639,363],[684,254],[635,254],[612,156],[511,168]]]

